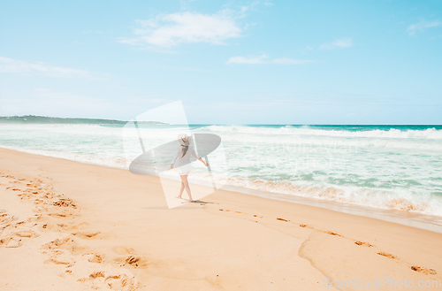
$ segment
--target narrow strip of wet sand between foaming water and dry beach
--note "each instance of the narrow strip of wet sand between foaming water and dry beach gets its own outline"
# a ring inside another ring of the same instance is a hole
[[[0,149],[8,149],[0,147]],[[53,157],[53,156],[46,156],[39,153],[34,153],[33,150],[30,151],[24,151],[19,149],[8,149],[8,150],[14,150],[18,152],[24,152],[31,155],[38,155],[42,157]],[[39,151],[39,149],[36,149],[34,151]],[[44,150],[42,150],[44,151]],[[87,163],[83,161],[74,161],[72,159],[68,159],[65,157],[54,157],[54,158],[61,158],[68,161],[72,161],[74,163],[80,163],[84,165],[96,165],[96,166],[103,166],[107,168],[112,169],[118,169],[123,171],[128,171],[124,167],[117,167],[112,165],[100,165],[100,164],[93,164],[93,163]],[[158,177],[157,175],[150,175],[153,177]],[[210,186],[210,183],[202,180],[194,180],[195,184],[204,185],[204,186]],[[384,209],[384,208],[378,208],[370,205],[360,205],[356,203],[342,203],[332,200],[326,200],[326,199],[318,199],[316,197],[305,197],[305,196],[299,196],[299,195],[287,195],[277,192],[271,192],[271,191],[265,191],[265,190],[259,190],[259,189],[253,189],[253,188],[244,188],[240,186],[232,186],[232,185],[223,185],[222,188],[226,191],[231,192],[238,192],[246,195],[254,195],[258,197],[262,197],[265,199],[271,199],[276,201],[284,201],[287,203],[300,203],[304,205],[309,205],[313,207],[320,207],[324,208],[326,210],[330,211],[338,211],[341,213],[347,213],[351,215],[357,215],[367,218],[376,218],[381,219],[387,222],[397,223],[403,226],[412,226],[417,227],[420,229],[436,232],[439,234],[442,234],[442,217],[426,214],[422,212],[416,212],[416,211],[401,211],[401,210],[394,210],[394,209]]]

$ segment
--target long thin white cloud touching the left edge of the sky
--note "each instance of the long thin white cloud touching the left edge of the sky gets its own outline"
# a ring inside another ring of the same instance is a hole
[[[0,73],[42,73],[50,77],[95,79],[93,74],[63,66],[48,65],[42,62],[27,62],[9,57],[0,57]]]

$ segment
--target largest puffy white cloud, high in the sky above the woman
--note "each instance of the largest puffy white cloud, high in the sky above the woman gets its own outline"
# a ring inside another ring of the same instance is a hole
[[[240,37],[242,32],[235,13],[228,9],[212,15],[189,11],[161,14],[136,22],[135,37],[122,38],[119,42],[164,48],[188,42],[224,44],[227,39]]]

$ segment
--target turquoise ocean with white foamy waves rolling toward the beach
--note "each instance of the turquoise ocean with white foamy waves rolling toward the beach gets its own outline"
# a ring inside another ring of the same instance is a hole
[[[187,126],[140,125],[144,146],[170,142]],[[140,155],[125,125],[1,124],[0,147],[128,169]],[[209,157],[217,183],[442,217],[442,126],[191,125],[217,134]],[[164,134],[166,133],[166,134]],[[129,144],[133,146],[127,146]],[[217,166],[221,165],[222,166]],[[194,163],[189,178],[210,181]]]

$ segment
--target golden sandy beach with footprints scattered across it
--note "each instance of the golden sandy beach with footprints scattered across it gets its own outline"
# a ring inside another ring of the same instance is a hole
[[[154,176],[0,160],[4,291],[441,287],[442,234],[225,190],[169,210]]]

